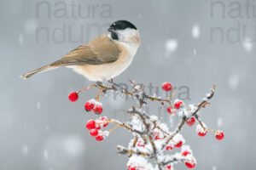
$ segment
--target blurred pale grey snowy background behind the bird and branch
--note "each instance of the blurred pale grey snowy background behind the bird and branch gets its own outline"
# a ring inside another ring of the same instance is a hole
[[[195,169],[254,169],[255,11],[254,0],[1,1],[0,169],[126,168],[127,156],[118,156],[116,145],[126,146],[131,133],[119,128],[99,143],[85,129],[97,117],[84,111],[96,89],[76,103],[67,99],[92,82],[66,68],[20,78],[107,33],[115,20],[131,21],[142,39],[133,63],[115,82],[132,79],[154,89],[172,82],[187,104],[200,102],[216,84],[212,105],[201,116],[207,127],[224,130],[225,138],[200,138],[195,127],[183,128],[197,158]],[[129,119],[131,99],[101,99],[103,116]],[[150,114],[169,122],[165,109],[149,105]],[[174,128],[176,122],[177,117],[169,124]],[[182,163],[175,167],[187,169]]]

